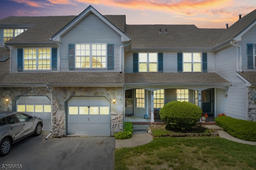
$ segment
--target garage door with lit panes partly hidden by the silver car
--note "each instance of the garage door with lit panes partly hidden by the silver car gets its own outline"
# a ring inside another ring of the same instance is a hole
[[[16,101],[17,112],[24,112],[43,120],[43,130],[51,130],[51,100],[46,96],[21,96]]]

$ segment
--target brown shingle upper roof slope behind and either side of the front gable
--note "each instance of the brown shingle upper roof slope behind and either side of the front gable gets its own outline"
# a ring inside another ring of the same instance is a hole
[[[112,24],[124,32],[125,15],[103,15]],[[53,35],[58,33],[70,21],[76,18],[71,16],[47,17],[7,17],[0,20],[0,24],[36,24],[8,42],[49,42]]]

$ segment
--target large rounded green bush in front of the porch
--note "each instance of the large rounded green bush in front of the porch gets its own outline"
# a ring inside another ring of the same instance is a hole
[[[172,101],[160,109],[161,120],[167,128],[188,130],[196,125],[202,116],[202,109],[193,103]]]

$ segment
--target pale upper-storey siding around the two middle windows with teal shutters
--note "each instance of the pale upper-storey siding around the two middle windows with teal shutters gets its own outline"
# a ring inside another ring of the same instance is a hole
[[[124,52],[125,73],[133,72],[133,53]],[[177,73],[177,52],[163,52],[163,61],[164,73]],[[215,52],[207,52],[207,72],[215,72]]]

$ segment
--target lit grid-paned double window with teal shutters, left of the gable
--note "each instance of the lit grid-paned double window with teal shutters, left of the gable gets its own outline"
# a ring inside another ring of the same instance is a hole
[[[51,70],[51,48],[24,48],[24,70]]]

